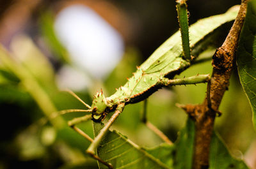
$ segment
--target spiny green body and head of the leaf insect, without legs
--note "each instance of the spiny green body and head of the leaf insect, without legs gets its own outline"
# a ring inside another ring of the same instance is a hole
[[[218,27],[233,20],[236,14],[237,10],[232,9],[223,15],[205,18],[193,24],[189,29],[191,31],[191,54],[196,57],[207,46],[211,46],[212,40],[214,41],[214,38],[218,37],[214,36],[214,34],[218,34]],[[131,78],[128,78],[124,86],[116,89],[116,92],[108,98],[105,98],[102,92],[97,92],[93,99],[92,108],[88,107],[90,108],[88,112],[92,112],[92,120],[100,122],[109,112],[115,111],[121,103],[127,105],[143,101],[161,87],[173,84],[173,76],[191,64],[189,60],[182,58],[184,53],[180,46],[181,41],[180,31],[178,31],[138,67],[138,70],[133,73]],[[206,79],[200,76],[193,78],[194,82],[195,79],[203,79],[204,82]],[[200,80],[196,82],[200,82]],[[173,85],[177,84],[179,83],[175,82]],[[191,84],[191,79],[189,82],[185,78],[181,84]]]

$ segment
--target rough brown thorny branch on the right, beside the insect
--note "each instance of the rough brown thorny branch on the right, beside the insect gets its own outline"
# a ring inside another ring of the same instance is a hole
[[[228,33],[223,45],[212,57],[212,77],[209,82],[209,92],[201,105],[186,105],[184,110],[195,121],[195,149],[193,154],[193,169],[209,167],[209,151],[214,119],[228,89],[229,79],[236,61],[236,49],[239,35],[243,27],[246,7],[249,0],[242,0],[239,13]]]

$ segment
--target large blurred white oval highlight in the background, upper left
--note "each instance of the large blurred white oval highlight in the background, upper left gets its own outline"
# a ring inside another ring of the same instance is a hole
[[[54,29],[72,62],[90,77],[107,77],[124,53],[120,34],[86,6],[76,4],[60,11]]]

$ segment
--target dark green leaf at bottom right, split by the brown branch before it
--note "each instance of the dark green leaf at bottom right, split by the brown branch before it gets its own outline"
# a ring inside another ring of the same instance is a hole
[[[180,131],[180,136],[175,143],[173,153],[173,168],[191,168],[193,160],[193,144],[195,138],[195,126],[191,119],[188,119],[186,127]],[[248,168],[243,161],[234,159],[221,141],[220,136],[212,134],[209,169],[216,168]]]

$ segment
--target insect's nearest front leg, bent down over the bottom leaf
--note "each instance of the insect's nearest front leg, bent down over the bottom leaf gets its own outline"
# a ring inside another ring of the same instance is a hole
[[[106,135],[106,133],[108,133],[108,129],[110,128],[110,126],[113,124],[113,122],[116,120],[116,118],[118,117],[118,115],[120,115],[120,113],[123,111],[124,109],[124,103],[121,103],[120,105],[118,105],[116,107],[115,113],[111,116],[111,118],[109,119],[108,122],[106,122],[106,124],[104,125],[104,127],[100,130],[99,135],[97,135],[93,142],[91,143],[91,145],[88,147],[88,149],[86,150],[86,153],[90,154],[90,156],[92,156],[92,158],[97,159],[100,163],[108,166],[108,168],[113,168],[113,166],[109,163],[106,163],[106,161],[103,161],[102,159],[100,159],[96,154],[95,154],[95,149],[97,147],[99,147],[99,144],[102,140],[102,138],[104,138],[104,136]]]

